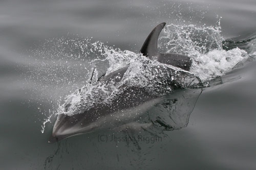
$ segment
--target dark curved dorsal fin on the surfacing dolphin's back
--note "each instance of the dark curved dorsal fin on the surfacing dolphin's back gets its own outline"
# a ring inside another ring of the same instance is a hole
[[[159,53],[157,51],[157,40],[165,24],[165,22],[160,23],[152,30],[150,35],[147,36],[144,44],[140,49],[140,52],[144,56],[149,57],[150,59],[152,59],[154,56],[158,56]]]

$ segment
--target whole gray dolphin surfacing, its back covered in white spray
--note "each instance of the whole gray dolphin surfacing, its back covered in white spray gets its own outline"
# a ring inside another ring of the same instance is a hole
[[[100,77],[94,69],[88,84],[76,92],[76,104],[69,101],[60,108],[49,142],[105,128],[147,128],[152,124],[136,118],[163,101],[163,96],[175,89],[202,86],[201,80],[188,72],[189,57],[157,51],[164,26],[165,22],[160,23],[148,35],[136,60]]]

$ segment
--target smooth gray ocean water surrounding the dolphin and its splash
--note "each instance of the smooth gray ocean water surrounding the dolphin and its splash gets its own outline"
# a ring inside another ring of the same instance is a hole
[[[41,133],[43,123],[88,80],[97,57],[77,59],[67,44],[91,39],[138,53],[160,22],[220,26],[225,50],[250,58],[204,88],[186,125],[159,140],[112,141],[102,130],[48,143],[56,117]],[[255,34],[255,0],[1,1],[0,169],[255,169]]]

